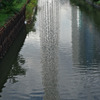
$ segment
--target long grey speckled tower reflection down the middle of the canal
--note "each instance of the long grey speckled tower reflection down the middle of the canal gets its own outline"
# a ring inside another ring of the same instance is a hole
[[[40,39],[44,100],[59,100],[57,87],[59,1],[40,0]]]

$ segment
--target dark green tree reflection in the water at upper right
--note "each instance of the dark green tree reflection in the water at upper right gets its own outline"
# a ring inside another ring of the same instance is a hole
[[[82,13],[84,13],[86,16],[89,17],[91,22],[98,28],[100,31],[100,11],[92,7],[91,5],[88,5],[84,0],[80,0],[82,2],[79,2],[78,0],[70,0],[71,4],[78,5],[80,7],[80,10]],[[77,4],[78,2],[79,4]]]

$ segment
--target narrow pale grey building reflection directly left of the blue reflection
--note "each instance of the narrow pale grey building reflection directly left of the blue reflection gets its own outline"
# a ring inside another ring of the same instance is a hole
[[[72,52],[73,52],[73,62],[77,63],[79,62],[79,30],[77,25],[77,7],[72,7]]]

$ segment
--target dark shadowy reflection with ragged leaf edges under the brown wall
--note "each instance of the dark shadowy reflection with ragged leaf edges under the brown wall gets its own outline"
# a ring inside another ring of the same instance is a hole
[[[21,50],[21,47],[23,46],[26,35],[27,35],[27,30],[26,30],[26,26],[24,25],[22,27],[21,31],[19,32],[17,39],[10,46],[7,54],[0,61],[0,80],[2,80],[2,81],[0,81],[0,92],[2,91],[2,88],[4,87],[4,84],[7,82],[8,76],[9,76],[9,78],[12,77],[13,81],[15,81],[14,75],[25,73],[25,70],[23,70],[20,67],[20,65],[17,63],[18,58],[20,59],[20,61],[23,61],[23,63],[24,63],[24,60],[20,56],[17,57],[17,55],[18,55],[19,51]],[[14,61],[18,65],[17,68],[12,66],[12,63]],[[10,73],[11,69],[13,69],[13,71]]]

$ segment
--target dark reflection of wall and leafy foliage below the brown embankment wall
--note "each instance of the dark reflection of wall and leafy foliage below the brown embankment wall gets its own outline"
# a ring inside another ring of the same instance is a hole
[[[24,27],[4,59],[0,61],[0,92],[2,91],[7,79],[9,82],[15,83],[17,82],[17,75],[26,74],[26,70],[22,68],[22,65],[25,63],[25,59],[19,54],[25,37],[26,31]]]

